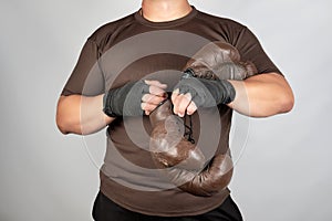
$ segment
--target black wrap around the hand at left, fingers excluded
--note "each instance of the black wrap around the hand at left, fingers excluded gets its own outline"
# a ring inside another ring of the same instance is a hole
[[[120,88],[113,88],[104,95],[104,113],[110,117],[141,116],[142,97],[149,86],[144,81],[129,82]]]

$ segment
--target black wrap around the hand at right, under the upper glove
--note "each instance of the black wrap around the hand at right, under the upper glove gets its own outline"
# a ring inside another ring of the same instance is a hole
[[[206,80],[194,77],[191,70],[186,70],[179,83],[174,87],[179,94],[191,95],[197,107],[212,107],[229,104],[235,99],[236,91],[227,80]]]

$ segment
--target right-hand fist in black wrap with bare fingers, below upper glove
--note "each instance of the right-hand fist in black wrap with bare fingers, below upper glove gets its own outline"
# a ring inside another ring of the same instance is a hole
[[[229,104],[236,95],[234,86],[227,80],[197,78],[188,73],[184,74],[174,88],[174,113],[180,117],[194,114],[198,107]]]

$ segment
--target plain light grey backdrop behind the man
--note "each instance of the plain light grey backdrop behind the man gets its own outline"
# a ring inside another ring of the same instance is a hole
[[[331,1],[191,3],[249,27],[295,94],[291,113],[250,119],[231,182],[245,220],[332,220]],[[138,0],[1,0],[1,221],[92,220],[104,146],[87,145],[89,151],[82,137],[61,135],[56,99],[86,38],[139,6]]]

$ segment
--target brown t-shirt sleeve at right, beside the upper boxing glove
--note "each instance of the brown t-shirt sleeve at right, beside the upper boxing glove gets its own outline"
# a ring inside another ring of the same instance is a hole
[[[280,70],[262,49],[257,36],[248,28],[243,27],[240,32],[238,32],[234,45],[239,50],[241,61],[252,62],[258,70],[258,74],[274,72],[282,75]]]

